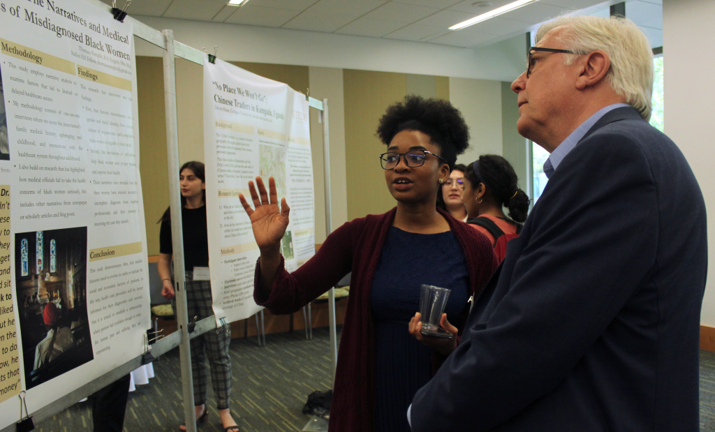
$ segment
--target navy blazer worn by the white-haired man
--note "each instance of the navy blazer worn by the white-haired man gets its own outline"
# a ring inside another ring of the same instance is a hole
[[[631,107],[558,165],[413,399],[415,432],[699,431],[705,204]]]

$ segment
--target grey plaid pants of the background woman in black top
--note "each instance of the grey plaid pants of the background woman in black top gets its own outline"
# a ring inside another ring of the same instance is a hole
[[[186,296],[189,311],[189,323],[198,316],[198,320],[214,315],[211,308],[211,283],[208,280],[192,280],[192,273],[187,272]],[[174,313],[176,311],[176,303]],[[194,405],[199,406],[206,402],[206,365],[208,354],[209,368],[211,369],[211,383],[214,388],[217,409],[229,408],[231,398],[231,359],[228,348],[231,342],[231,329],[229,326],[209,330],[191,340],[191,369],[194,375]],[[228,331],[226,331],[228,330]],[[205,350],[204,350],[205,348]]]

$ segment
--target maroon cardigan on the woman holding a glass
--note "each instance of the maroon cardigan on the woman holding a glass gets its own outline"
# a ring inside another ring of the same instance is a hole
[[[260,265],[256,265],[253,297],[257,304],[279,315],[297,312],[352,270],[337,353],[330,431],[375,432],[375,334],[370,289],[395,211],[345,223],[325,239],[314,257],[293,273],[287,273],[281,259],[269,298],[262,298],[259,293]],[[464,250],[470,287],[476,296],[498,265],[493,247],[485,235],[439,211]]]

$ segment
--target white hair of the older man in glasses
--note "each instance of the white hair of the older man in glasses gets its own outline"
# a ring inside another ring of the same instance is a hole
[[[561,16],[539,27],[536,41],[557,27],[563,27],[558,41],[563,49],[588,54],[600,49],[611,58],[611,69],[606,82],[626,99],[641,117],[651,118],[653,92],[653,51],[646,35],[633,21],[623,17],[610,19],[598,16]],[[576,56],[566,55],[566,64]]]

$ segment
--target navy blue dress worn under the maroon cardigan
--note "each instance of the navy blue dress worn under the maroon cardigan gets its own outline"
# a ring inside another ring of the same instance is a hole
[[[391,227],[370,291],[375,327],[375,426],[410,432],[407,408],[430,381],[432,350],[408,332],[420,306],[420,285],[449,288],[445,313],[453,325],[470,296],[464,252],[453,232],[415,234]]]

